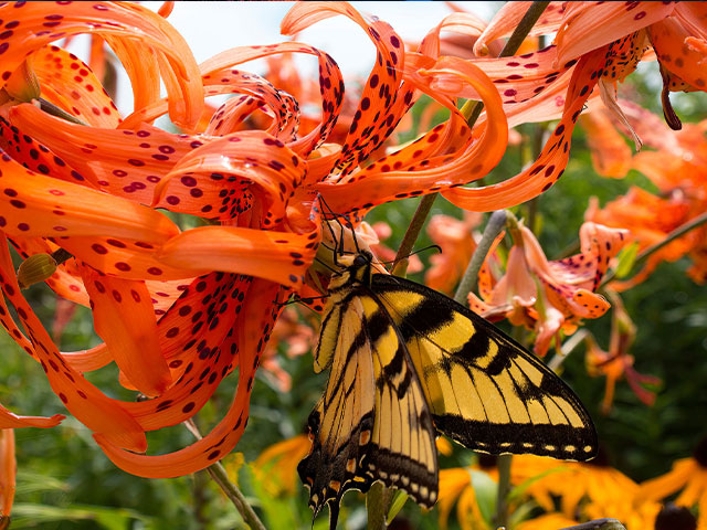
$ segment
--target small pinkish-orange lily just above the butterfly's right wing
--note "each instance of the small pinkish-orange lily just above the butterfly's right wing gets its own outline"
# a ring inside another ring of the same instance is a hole
[[[599,318],[609,309],[609,303],[593,292],[626,236],[625,230],[584,223],[580,229],[582,252],[549,262],[532,232],[520,226],[506,274],[496,279],[489,267],[482,268],[482,298],[471,293],[469,306],[486,318],[507,317],[514,325],[534,329],[535,351],[544,356],[560,329],[572,333],[582,318]]]

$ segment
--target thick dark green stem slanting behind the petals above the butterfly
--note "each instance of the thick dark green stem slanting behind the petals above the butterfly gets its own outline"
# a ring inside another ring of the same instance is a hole
[[[523,41],[526,39],[526,36],[528,36],[530,29],[538,21],[538,19],[545,11],[545,8],[547,8],[549,3],[550,2],[537,0],[532,2],[530,8],[528,8],[525,17],[520,20],[520,23],[508,39],[508,42],[506,42],[506,45],[502,50],[499,56],[508,57],[510,55],[514,55],[518,51],[520,44],[523,44]],[[462,106],[461,113],[466,116],[466,123],[468,124],[469,129],[474,128],[476,120],[482,115],[483,108],[484,105],[481,102],[471,99],[467,100],[464,106]],[[405,235],[403,236],[403,242],[400,246],[400,250],[398,251],[398,255],[395,256],[393,274],[398,276],[400,275],[399,272],[395,273],[398,263],[401,262],[404,257],[409,256],[412,252],[412,247],[415,244],[418,236],[420,235],[420,231],[422,230],[430,210],[432,209],[432,204],[434,203],[434,200],[437,198],[437,195],[439,193],[430,193],[428,195],[424,195],[420,200],[420,205],[418,206],[418,210],[415,211],[415,214],[410,222],[410,226],[408,226]]]

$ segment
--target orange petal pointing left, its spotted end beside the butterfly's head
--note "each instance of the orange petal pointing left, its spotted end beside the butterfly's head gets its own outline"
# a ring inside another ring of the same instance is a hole
[[[236,226],[200,226],[166,243],[157,258],[179,267],[247,274],[297,287],[312,264],[317,232],[293,234]]]

